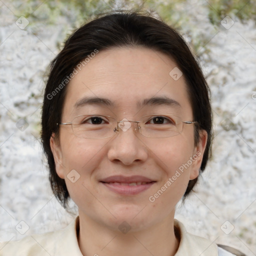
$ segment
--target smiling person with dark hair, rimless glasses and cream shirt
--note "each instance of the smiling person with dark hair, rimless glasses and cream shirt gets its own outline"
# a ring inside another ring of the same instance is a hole
[[[79,215],[0,255],[233,255],[174,219],[212,120],[200,67],[164,22],[120,12],[77,29],[52,61],[41,123],[52,190]]]

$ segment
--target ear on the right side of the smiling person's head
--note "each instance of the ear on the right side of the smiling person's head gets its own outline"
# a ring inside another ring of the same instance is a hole
[[[199,169],[202,162],[203,153],[207,144],[207,131],[200,130],[199,131],[199,141],[197,145],[194,147],[193,155],[192,155],[192,166],[190,169],[189,179],[194,179],[199,175]]]

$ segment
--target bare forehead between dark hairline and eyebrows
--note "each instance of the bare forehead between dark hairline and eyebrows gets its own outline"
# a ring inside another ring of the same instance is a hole
[[[178,79],[170,75],[176,69],[176,63],[166,54],[141,46],[99,51],[77,69],[67,85],[63,115],[71,115],[83,98],[104,98],[109,100],[109,107],[125,112],[136,111],[149,98],[165,97],[189,112],[183,75]]]

